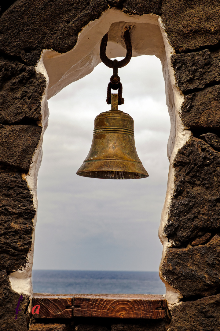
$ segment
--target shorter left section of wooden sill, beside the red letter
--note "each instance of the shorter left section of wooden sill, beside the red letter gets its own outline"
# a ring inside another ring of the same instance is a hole
[[[34,293],[33,307],[40,305],[35,318],[72,318],[74,294]]]

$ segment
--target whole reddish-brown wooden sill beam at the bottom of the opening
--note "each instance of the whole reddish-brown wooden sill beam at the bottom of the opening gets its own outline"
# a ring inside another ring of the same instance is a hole
[[[165,317],[166,300],[152,294],[46,294],[34,293],[33,307],[39,305],[35,318]]]

